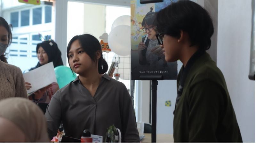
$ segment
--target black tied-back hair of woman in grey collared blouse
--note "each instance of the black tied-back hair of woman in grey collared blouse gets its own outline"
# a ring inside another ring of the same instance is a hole
[[[67,56],[68,56],[68,52],[70,50],[71,44],[76,40],[79,41],[79,44],[82,46],[86,54],[90,56],[92,61],[94,62],[96,62],[97,60],[96,52],[100,50],[101,56],[98,63],[98,71],[100,74],[106,73],[108,71],[108,63],[106,62],[105,59],[103,59],[100,42],[98,41],[97,38],[95,38],[90,34],[82,34],[82,35],[74,36],[68,43]],[[68,56],[68,64],[69,64],[69,56]]]

